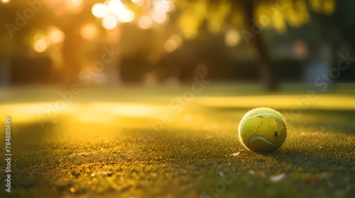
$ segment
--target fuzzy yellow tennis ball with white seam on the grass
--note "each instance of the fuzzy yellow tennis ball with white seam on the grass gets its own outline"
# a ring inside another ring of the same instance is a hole
[[[287,136],[285,118],[271,108],[256,108],[244,115],[239,123],[241,144],[255,152],[275,151]]]

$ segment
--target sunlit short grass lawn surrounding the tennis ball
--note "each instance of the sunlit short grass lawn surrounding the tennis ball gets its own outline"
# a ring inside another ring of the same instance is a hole
[[[0,197],[353,197],[354,87],[211,84],[190,96],[188,85],[82,88],[52,114],[57,88],[2,89],[13,162],[8,193],[1,160]],[[253,107],[288,120],[278,151],[239,143],[237,126]],[[4,146],[1,138],[1,158]]]

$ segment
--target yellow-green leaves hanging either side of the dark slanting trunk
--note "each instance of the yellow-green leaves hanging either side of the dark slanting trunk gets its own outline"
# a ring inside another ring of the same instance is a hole
[[[210,33],[218,33],[225,26],[245,29],[243,14],[248,1],[182,0],[175,1],[175,3],[178,10],[181,11],[178,21],[179,27],[187,38],[196,37],[204,22],[207,23]],[[258,23],[263,25],[266,20],[268,22],[266,22],[265,28],[275,28],[283,33],[287,24],[297,28],[310,21],[310,11],[327,15],[333,13],[335,0],[256,0],[253,1],[253,5],[254,16]]]

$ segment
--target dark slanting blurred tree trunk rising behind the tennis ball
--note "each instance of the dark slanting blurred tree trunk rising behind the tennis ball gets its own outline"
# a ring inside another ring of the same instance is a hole
[[[249,33],[253,33],[251,28],[253,27],[253,22],[251,19],[254,18],[253,15],[254,4],[252,0],[245,2],[245,27]],[[266,86],[268,90],[275,90],[278,88],[278,83],[275,78],[275,74],[271,67],[271,58],[268,54],[268,49],[266,48],[265,42],[261,34],[256,34],[256,37],[251,38],[251,45],[256,48],[259,59],[259,69],[261,81]]]

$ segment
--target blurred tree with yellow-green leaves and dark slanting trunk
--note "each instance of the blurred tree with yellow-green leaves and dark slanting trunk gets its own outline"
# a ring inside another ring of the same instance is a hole
[[[288,25],[297,28],[310,20],[310,11],[329,15],[334,11],[335,0],[179,0],[178,25],[185,38],[197,37],[202,26],[209,33],[233,28],[239,30],[246,44],[251,44],[259,59],[261,80],[266,88],[277,88],[277,79],[271,66],[268,47],[261,33],[266,28],[285,32]]]

